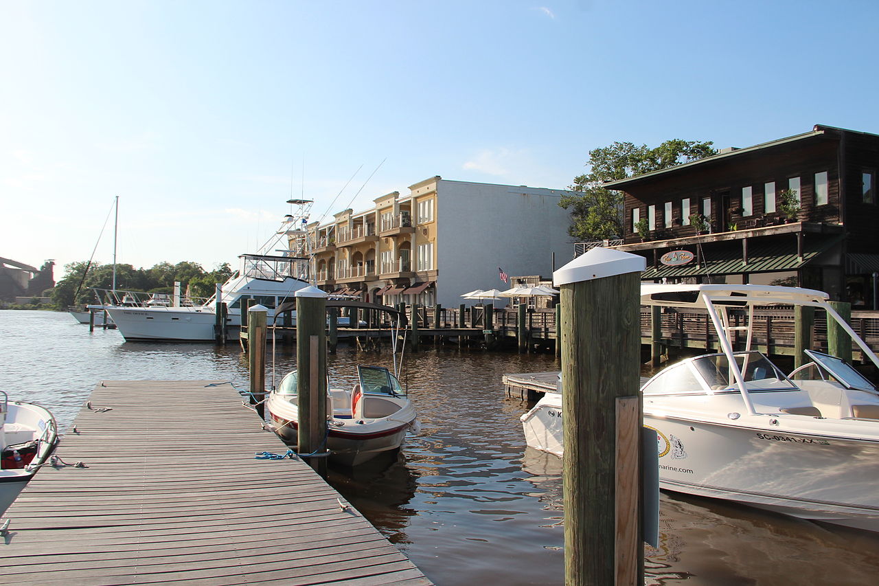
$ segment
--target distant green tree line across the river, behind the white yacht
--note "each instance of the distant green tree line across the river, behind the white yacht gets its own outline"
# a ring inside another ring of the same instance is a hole
[[[64,278],[55,284],[54,289],[50,289],[54,304],[58,307],[95,303],[98,300],[91,288],[113,288],[112,264],[92,262],[90,266],[86,261],[71,262],[64,266],[64,271]],[[225,282],[230,275],[232,269],[228,262],[214,267],[210,272],[191,261],[178,262],[176,265],[160,262],[151,268],[117,264],[116,289],[171,293],[174,282],[179,281],[181,289],[185,291],[188,288],[192,297],[210,297],[214,295],[216,283]]]

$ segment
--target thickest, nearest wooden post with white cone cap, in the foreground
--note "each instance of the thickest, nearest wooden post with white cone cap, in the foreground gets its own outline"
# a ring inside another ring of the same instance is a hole
[[[564,555],[568,586],[643,584],[640,275],[643,257],[594,248],[562,290]]]

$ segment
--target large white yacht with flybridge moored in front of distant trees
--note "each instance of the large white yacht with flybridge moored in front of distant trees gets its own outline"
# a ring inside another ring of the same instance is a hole
[[[266,254],[242,254],[239,259],[239,271],[221,289],[219,302],[228,308],[226,326],[241,326],[244,299],[256,299],[265,305],[271,319],[273,308],[309,285],[308,259]],[[204,304],[115,304],[105,309],[128,341],[213,341],[216,306],[214,296]]]

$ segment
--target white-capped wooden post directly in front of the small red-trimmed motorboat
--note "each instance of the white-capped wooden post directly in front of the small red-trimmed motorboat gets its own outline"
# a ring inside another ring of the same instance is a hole
[[[299,404],[297,446],[300,456],[316,472],[326,476],[327,363],[324,316],[327,294],[316,287],[305,287],[296,291],[295,295]]]

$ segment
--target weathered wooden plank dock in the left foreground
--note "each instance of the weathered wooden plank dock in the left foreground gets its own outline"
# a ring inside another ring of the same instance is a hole
[[[90,401],[56,452],[71,465],[4,514],[0,583],[431,583],[309,465],[255,459],[286,447],[230,385],[105,381]]]

